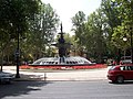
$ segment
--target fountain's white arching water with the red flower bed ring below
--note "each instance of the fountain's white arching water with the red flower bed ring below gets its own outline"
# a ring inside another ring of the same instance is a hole
[[[22,65],[21,69],[93,69],[106,68],[104,64],[93,64],[84,57],[65,57],[64,63],[59,57],[43,57],[33,64]]]

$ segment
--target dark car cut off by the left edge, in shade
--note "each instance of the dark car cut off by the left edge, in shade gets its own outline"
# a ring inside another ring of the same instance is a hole
[[[14,78],[13,74],[0,72],[0,84],[10,84]]]

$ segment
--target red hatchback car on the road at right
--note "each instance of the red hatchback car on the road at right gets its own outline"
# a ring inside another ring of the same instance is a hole
[[[121,84],[133,80],[133,64],[112,66],[108,72],[108,79]]]

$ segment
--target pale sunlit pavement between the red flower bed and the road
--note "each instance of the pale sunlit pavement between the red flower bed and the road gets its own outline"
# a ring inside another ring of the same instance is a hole
[[[109,68],[101,69],[81,69],[81,70],[44,70],[44,72],[22,72],[17,80],[108,80],[106,74]],[[16,66],[4,66],[3,72],[16,75]]]

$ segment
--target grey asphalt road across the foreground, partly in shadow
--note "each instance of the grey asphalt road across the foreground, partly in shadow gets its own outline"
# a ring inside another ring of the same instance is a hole
[[[133,82],[14,81],[0,85],[0,99],[133,99]]]

